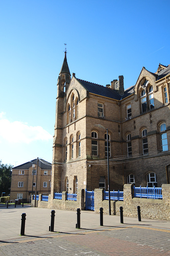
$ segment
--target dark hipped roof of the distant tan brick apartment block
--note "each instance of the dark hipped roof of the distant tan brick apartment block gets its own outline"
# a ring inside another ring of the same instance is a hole
[[[27,163],[18,165],[18,166],[16,166],[16,167],[12,168],[12,170],[13,170],[13,169],[17,169],[17,170],[27,170],[27,169],[29,169],[33,164],[37,164],[37,158],[34,159],[34,160],[31,160],[31,161],[29,161],[29,162],[27,162]],[[42,170],[51,170],[51,169],[52,169],[51,163],[49,163],[49,162],[47,162],[47,161],[45,161],[45,160],[43,160],[43,159],[41,159],[41,158],[40,158],[39,161],[38,161],[38,166],[41,167]]]

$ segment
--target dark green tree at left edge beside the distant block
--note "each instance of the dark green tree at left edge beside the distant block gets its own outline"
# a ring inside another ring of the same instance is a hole
[[[0,161],[0,197],[2,192],[5,192],[3,196],[8,196],[10,194],[11,187],[11,176],[12,176],[12,166],[11,164],[2,164]]]

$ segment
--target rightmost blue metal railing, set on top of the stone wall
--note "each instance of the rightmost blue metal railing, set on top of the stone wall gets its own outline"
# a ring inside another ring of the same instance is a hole
[[[145,188],[133,187],[134,188],[134,196],[140,198],[152,198],[152,199],[162,199],[162,188],[149,188],[148,186]]]

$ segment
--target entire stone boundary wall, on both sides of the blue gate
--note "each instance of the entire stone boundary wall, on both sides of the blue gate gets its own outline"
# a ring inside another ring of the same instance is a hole
[[[61,210],[76,210],[85,208],[84,189],[78,189],[77,201],[66,200],[67,192],[62,193],[62,199],[53,199],[49,195],[49,201],[37,201],[37,207]],[[41,194],[39,194],[41,199]],[[163,199],[135,198],[133,185],[125,184],[123,187],[123,201],[111,200],[111,214],[120,215],[120,206],[123,207],[123,215],[137,218],[137,206],[141,208],[141,218],[170,220],[170,184],[162,185]],[[31,203],[34,206],[34,200]],[[99,213],[100,207],[104,214],[109,214],[109,201],[104,200],[104,189],[94,190],[94,212]]]

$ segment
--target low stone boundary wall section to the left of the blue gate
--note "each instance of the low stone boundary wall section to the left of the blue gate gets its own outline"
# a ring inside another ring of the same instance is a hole
[[[66,191],[62,192],[62,199],[53,199],[49,195],[49,200],[42,201],[42,195],[39,194],[39,200],[37,200],[37,207],[40,208],[49,208],[49,209],[60,209],[60,210],[84,210],[84,189],[78,189],[77,192],[77,201],[67,200]],[[31,206],[34,207],[35,200],[32,200]]]

